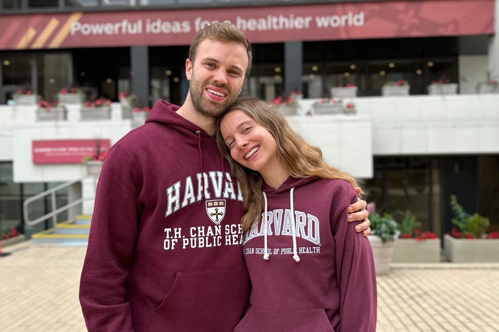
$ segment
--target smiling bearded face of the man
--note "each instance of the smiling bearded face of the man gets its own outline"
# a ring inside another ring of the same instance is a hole
[[[196,59],[186,63],[189,92],[196,112],[217,117],[238,97],[248,67],[246,48],[236,42],[203,40]]]

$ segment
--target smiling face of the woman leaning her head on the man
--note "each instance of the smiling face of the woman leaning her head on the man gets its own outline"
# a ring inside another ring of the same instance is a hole
[[[231,157],[239,164],[263,176],[280,168],[274,137],[245,112],[235,110],[226,114],[220,123],[220,132],[231,150]]]

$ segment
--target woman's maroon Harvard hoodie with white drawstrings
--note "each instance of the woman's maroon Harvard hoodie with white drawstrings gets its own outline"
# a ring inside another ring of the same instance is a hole
[[[263,192],[266,226],[262,213],[243,238],[251,308],[234,331],[375,332],[371,246],[355,232],[358,222],[347,221],[347,207],[357,200],[353,186],[289,177]]]

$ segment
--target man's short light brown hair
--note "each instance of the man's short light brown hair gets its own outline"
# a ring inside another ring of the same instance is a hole
[[[189,59],[191,62],[196,60],[196,52],[198,51],[199,44],[205,40],[215,41],[235,41],[246,48],[248,54],[248,67],[246,68],[245,80],[250,75],[251,70],[251,44],[246,38],[243,31],[231,22],[215,22],[205,26],[198,35],[194,38],[189,49]]]

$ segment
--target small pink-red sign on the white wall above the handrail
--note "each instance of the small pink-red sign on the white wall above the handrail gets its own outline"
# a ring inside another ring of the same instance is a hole
[[[32,142],[33,164],[80,164],[93,156],[97,148],[107,153],[110,140],[54,140]]]

